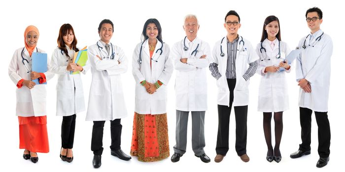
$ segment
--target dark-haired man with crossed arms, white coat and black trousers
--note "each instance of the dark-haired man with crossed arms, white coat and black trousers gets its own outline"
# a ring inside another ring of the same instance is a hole
[[[101,39],[87,51],[92,82],[86,120],[94,121],[91,141],[94,168],[102,164],[105,120],[110,120],[111,155],[126,161],[131,159],[121,150],[121,118],[127,116],[127,110],[120,74],[127,71],[128,62],[123,50],[110,42],[113,26],[110,20],[104,19],[98,28]]]

